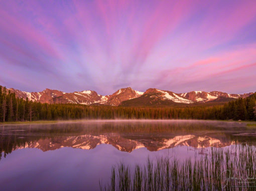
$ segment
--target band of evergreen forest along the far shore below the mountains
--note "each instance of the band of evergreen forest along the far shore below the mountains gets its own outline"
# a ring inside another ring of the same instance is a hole
[[[48,104],[16,97],[0,86],[0,121],[63,119],[234,119],[256,120],[256,93],[224,105],[194,107],[122,107]]]

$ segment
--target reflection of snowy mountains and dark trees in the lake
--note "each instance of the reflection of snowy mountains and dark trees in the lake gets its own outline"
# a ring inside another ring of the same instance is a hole
[[[43,151],[61,147],[92,149],[102,143],[131,152],[140,147],[156,151],[178,145],[200,148],[222,147],[236,142],[256,142],[255,136],[247,136],[247,133],[255,132],[255,128],[237,122],[94,121],[2,125],[1,128],[0,151],[5,154],[24,147]]]

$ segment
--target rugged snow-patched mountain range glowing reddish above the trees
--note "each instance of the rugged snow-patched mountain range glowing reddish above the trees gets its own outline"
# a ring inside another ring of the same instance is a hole
[[[16,93],[20,98],[28,98],[42,103],[74,103],[74,104],[104,104],[122,106],[168,106],[189,105],[205,102],[226,102],[239,97],[248,97],[253,94],[230,94],[221,91],[190,91],[175,93],[169,90],[149,88],[145,92],[137,91],[131,87],[121,88],[110,95],[100,95],[93,90],[63,92],[46,88],[40,92],[26,92],[19,89],[8,88],[8,91]]]

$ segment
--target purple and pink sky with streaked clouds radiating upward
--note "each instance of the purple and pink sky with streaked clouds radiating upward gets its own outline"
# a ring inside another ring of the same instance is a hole
[[[0,84],[256,91],[256,0],[0,0]]]

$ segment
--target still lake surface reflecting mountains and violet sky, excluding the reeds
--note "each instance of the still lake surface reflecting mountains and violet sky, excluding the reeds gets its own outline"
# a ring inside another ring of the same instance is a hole
[[[99,190],[111,167],[160,157],[197,158],[211,147],[255,144],[232,121],[91,120],[0,125],[1,190]]]

